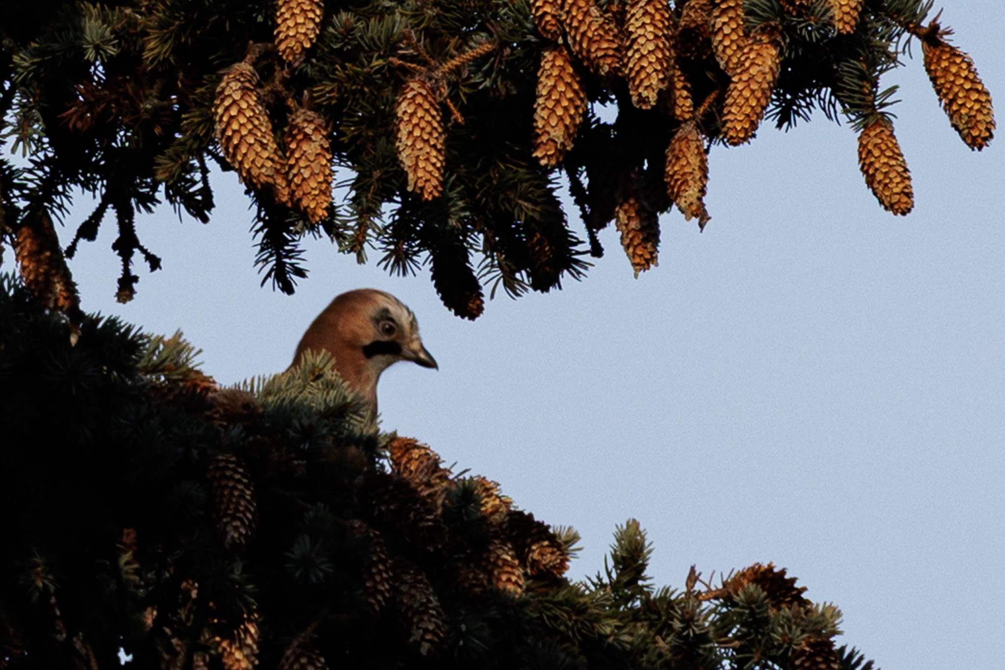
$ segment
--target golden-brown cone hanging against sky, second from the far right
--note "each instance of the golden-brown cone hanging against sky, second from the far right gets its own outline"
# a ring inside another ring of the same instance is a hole
[[[907,214],[915,206],[911,173],[893,125],[878,119],[858,135],[858,167],[879,204],[893,214]]]

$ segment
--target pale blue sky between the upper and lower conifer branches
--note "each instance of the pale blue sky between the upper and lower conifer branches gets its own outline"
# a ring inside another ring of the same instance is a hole
[[[999,106],[1003,15],[990,0],[946,3]],[[131,304],[114,299],[112,223],[71,267],[85,309],[182,328],[227,384],[285,368],[336,293],[389,290],[417,313],[441,369],[385,374],[384,428],[579,529],[573,576],[600,570],[614,525],[635,516],[657,584],[682,586],[692,563],[708,576],[773,561],[840,606],[839,641],[881,668],[998,669],[1003,140],[964,146],[920,55],[885,80],[902,86],[907,218],[865,188],[850,129],[818,115],[714,148],[713,220],[698,234],[664,216],[658,268],[633,279],[607,230],[586,280],[496,298],[473,323],[441,306],[427,272],[390,277],[327,242],[307,245],[311,277],[294,296],[259,288],[232,173],[215,180],[209,225],[169,212],[139,221],[165,267],[138,272]]]

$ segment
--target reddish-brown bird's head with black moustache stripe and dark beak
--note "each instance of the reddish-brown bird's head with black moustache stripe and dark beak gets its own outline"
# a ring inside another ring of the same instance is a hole
[[[380,374],[398,361],[436,368],[419,337],[412,310],[384,291],[360,288],[337,296],[318,315],[296,347],[293,363],[306,351],[325,350],[351,389],[364,396],[374,414]]]

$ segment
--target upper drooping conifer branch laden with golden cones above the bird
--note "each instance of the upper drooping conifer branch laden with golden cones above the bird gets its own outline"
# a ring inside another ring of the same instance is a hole
[[[444,303],[474,318],[483,286],[520,295],[581,276],[611,222],[636,274],[655,265],[661,214],[711,218],[710,145],[746,144],[765,120],[847,118],[866,186],[909,213],[911,148],[880,80],[912,43],[967,146],[995,129],[973,60],[927,0],[63,4],[0,8],[0,124],[29,157],[0,159],[4,242],[59,216],[73,189],[93,194],[66,255],[114,217],[123,300],[134,252],[160,263],[137,208],[208,221],[213,164],[254,200],[258,263],[280,289],[306,276],[298,239],[324,233],[392,272],[429,263]],[[29,273],[62,272],[31,253],[18,255]]]

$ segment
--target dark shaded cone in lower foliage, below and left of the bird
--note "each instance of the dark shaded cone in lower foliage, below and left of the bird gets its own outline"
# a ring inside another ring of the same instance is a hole
[[[245,546],[254,533],[254,484],[241,459],[229,452],[210,457],[207,470],[216,527],[227,548]]]

